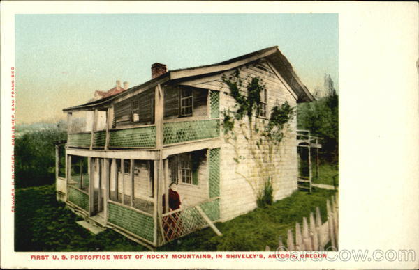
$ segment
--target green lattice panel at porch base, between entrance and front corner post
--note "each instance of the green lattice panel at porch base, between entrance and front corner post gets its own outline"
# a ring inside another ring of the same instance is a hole
[[[134,235],[154,241],[154,220],[135,210],[108,202],[108,221]]]

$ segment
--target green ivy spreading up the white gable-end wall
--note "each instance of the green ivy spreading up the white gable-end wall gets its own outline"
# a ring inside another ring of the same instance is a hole
[[[255,148],[250,147],[253,160],[256,163],[256,170],[263,170],[269,172],[270,176],[265,178],[263,187],[258,191],[258,184],[252,184],[251,180],[247,181],[251,184],[253,191],[256,193],[256,202],[258,207],[264,207],[265,205],[271,205],[273,202],[273,188],[272,188],[272,177],[274,177],[275,167],[273,164],[274,156],[277,154],[279,143],[284,138],[284,127],[287,127],[288,122],[294,116],[294,108],[284,102],[279,105],[272,106],[272,109],[268,113],[270,118],[259,118],[260,113],[260,93],[263,93],[266,89],[266,85],[263,83],[263,79],[259,77],[247,77],[242,79],[240,77],[240,70],[237,69],[230,77],[222,77],[223,84],[226,84],[230,89],[230,95],[235,100],[235,106],[233,111],[224,110],[223,114],[223,132],[226,135],[226,140],[233,139],[237,141],[235,134],[235,125],[240,127],[242,136],[247,140],[249,144],[254,143]],[[247,116],[249,122],[244,122],[244,118]],[[254,119],[254,120],[253,120]],[[247,129],[244,130],[244,129]],[[237,147],[237,142],[235,149]],[[256,151],[257,149],[257,151]],[[240,160],[244,157],[240,156],[236,149],[236,157],[233,157],[235,163],[239,164]],[[272,165],[273,164],[273,165]],[[242,175],[242,174],[240,174]],[[243,177],[246,176],[242,175]]]

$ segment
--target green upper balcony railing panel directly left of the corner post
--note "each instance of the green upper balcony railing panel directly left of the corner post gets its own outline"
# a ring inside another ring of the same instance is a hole
[[[156,127],[111,130],[109,146],[154,148],[156,146]]]

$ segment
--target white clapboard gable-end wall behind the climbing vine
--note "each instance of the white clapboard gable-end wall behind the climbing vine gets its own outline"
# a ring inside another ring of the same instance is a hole
[[[268,116],[272,106],[275,104],[282,104],[287,101],[293,107],[297,105],[295,96],[287,90],[284,83],[277,77],[267,63],[258,63],[243,67],[240,74],[243,78],[257,76],[263,79],[263,83],[267,87]],[[200,84],[199,87],[204,88],[205,85],[219,87],[222,85],[221,83],[221,77],[219,77],[214,81],[207,81]],[[220,110],[232,110],[235,105],[235,100],[228,94],[230,90],[224,85],[221,87],[221,91]],[[297,189],[296,119],[293,118],[290,124],[286,132],[286,137],[281,142],[280,151],[273,161],[275,166],[277,166],[278,172],[277,177],[272,182],[274,200],[285,198]],[[235,133],[240,134],[237,126],[235,127]],[[244,159],[240,159],[238,164],[235,161],[237,159],[235,147],[227,142],[224,142],[221,147],[221,219],[223,221],[233,219],[235,216],[256,208],[257,193],[253,191],[247,181],[257,181],[256,178],[266,178],[266,176],[256,175],[256,170],[254,169],[256,164],[249,151],[249,144],[246,139],[243,136],[239,136],[235,145],[237,145],[239,155],[244,157]],[[258,182],[263,184],[263,181]]]

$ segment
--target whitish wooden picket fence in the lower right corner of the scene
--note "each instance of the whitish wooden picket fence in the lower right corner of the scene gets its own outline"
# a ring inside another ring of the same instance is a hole
[[[302,229],[300,223],[295,223],[295,237],[293,230],[289,229],[286,239],[286,246],[279,237],[277,251],[324,251],[326,244],[330,242],[332,248],[329,251],[337,251],[339,241],[339,207],[338,193],[327,200],[328,221],[321,223],[320,209],[316,207],[316,217],[310,212],[309,222],[304,216]],[[295,241],[294,241],[295,239]],[[265,251],[271,251],[266,246]]]

